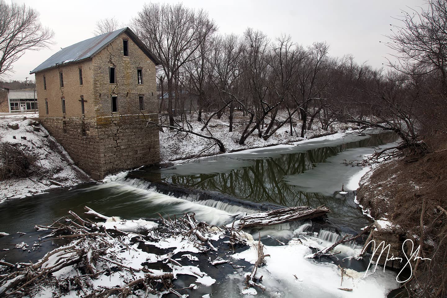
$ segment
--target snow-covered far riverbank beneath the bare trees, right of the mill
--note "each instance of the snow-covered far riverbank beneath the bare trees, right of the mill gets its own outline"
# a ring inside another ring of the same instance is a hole
[[[277,119],[282,120],[285,118],[287,118],[287,113],[285,111],[278,112]],[[211,133],[212,136],[219,139],[224,144],[227,152],[291,143],[304,139],[312,139],[321,135],[344,132],[348,128],[357,128],[357,126],[353,124],[335,124],[329,130],[322,130],[320,123],[318,121],[314,121],[311,129],[307,130],[304,136],[305,138],[303,139],[298,136],[301,133],[301,121],[294,117],[293,136],[290,135],[290,124],[287,123],[278,129],[266,141],[258,138],[257,131],[255,131],[245,140],[244,145],[240,145],[238,143],[240,135],[243,130],[243,126],[245,125],[245,121],[248,121],[248,118],[243,118],[240,112],[235,112],[234,119],[234,127],[232,132],[228,132],[229,122],[226,115],[223,115],[220,119],[211,119],[207,126],[208,131],[207,129],[204,131],[200,130],[203,127],[203,123],[197,122],[196,118],[193,118],[190,121],[190,124],[194,128],[194,132],[205,135],[210,135]],[[162,117],[162,122],[163,121],[165,124],[169,123],[169,120],[166,120],[165,117]],[[177,119],[177,122],[181,123],[180,118]],[[219,153],[219,147],[212,146],[213,144],[215,144],[214,141],[194,134],[186,134],[183,132],[164,129],[164,132],[160,132],[160,159],[161,162],[169,162],[177,159],[192,158],[198,154],[214,155]]]

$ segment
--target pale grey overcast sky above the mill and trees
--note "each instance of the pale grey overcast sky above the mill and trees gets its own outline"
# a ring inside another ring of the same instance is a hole
[[[95,23],[116,17],[127,24],[141,10],[144,0],[14,0],[40,12],[43,25],[55,31],[55,44],[49,49],[28,51],[14,65],[15,73],[6,80],[34,80],[30,71],[60,48],[94,36]],[[11,2],[11,0],[7,0]],[[164,1],[177,3],[178,1]],[[390,24],[402,10],[424,6],[424,0],[185,0],[190,8],[208,11],[220,33],[242,34],[247,27],[266,33],[271,39],[290,34],[304,46],[326,41],[330,55],[352,54],[358,63],[368,61],[382,67],[391,50],[382,42]],[[410,7],[410,8],[409,8]]]

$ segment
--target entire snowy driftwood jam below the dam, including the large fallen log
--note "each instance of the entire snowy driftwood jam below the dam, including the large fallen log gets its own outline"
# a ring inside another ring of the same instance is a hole
[[[139,260],[139,257],[145,254],[139,249],[139,245],[156,246],[159,241],[179,237],[178,239],[186,239],[189,243],[192,243],[198,252],[216,252],[217,248],[211,240],[215,240],[216,235],[228,239],[224,243],[233,247],[233,251],[234,245],[239,243],[251,243],[257,248],[257,261],[251,273],[245,275],[245,284],[247,288],[253,287],[264,291],[266,287],[261,284],[262,276],[257,277],[256,273],[257,268],[265,264],[265,258],[269,255],[264,254],[264,246],[260,240],[257,241],[257,244],[253,243],[251,235],[245,233],[242,229],[316,218],[330,212],[325,206],[316,209],[291,207],[269,212],[257,212],[240,218],[238,223],[233,222],[231,227],[223,228],[209,225],[206,222],[198,222],[194,218],[194,213],[185,214],[181,218],[175,216],[173,218],[163,218],[160,215],[158,224],[152,222],[158,228],[127,232],[128,230],[122,231],[122,228],[117,228],[122,227],[122,225],[114,225],[115,221],[122,223],[126,222],[125,220],[122,221],[119,218],[99,214],[88,207],[84,208],[87,210],[85,213],[90,218],[94,216],[106,222],[93,222],[89,218],[82,218],[69,211],[70,217],[60,218],[47,226],[36,225],[37,230],[49,231],[49,235],[42,237],[40,242],[36,243],[37,245],[56,240],[66,244],[48,252],[34,264],[31,262],[10,264],[2,261],[0,263],[0,297],[33,297],[35,294],[42,294],[42,291],[50,296],[51,293],[55,292],[59,296],[75,294],[89,298],[103,298],[111,295],[127,297],[129,294],[136,294],[137,296],[173,294],[177,297],[184,297],[182,291],[195,289],[197,286],[192,284],[190,287],[175,288],[175,268],[182,267],[180,260],[183,260],[183,257],[180,259],[178,256],[174,257],[173,252],[157,255],[156,260],[146,261],[167,264],[171,270],[149,269],[148,266],[144,265],[145,260],[132,262],[132,259]],[[330,248],[325,252],[317,252],[316,257],[327,254],[329,251]],[[228,263],[233,268],[242,267],[232,263],[231,257],[228,255],[226,257],[228,259],[223,259],[217,255],[215,260],[210,259],[209,263],[212,265]],[[185,263],[183,266],[186,266]],[[119,273],[122,281],[120,285],[102,284],[103,280],[112,279],[110,276],[116,272]],[[206,273],[199,270],[198,273],[192,275],[203,277]]]

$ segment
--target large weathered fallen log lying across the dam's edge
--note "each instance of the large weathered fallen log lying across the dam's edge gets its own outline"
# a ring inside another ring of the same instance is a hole
[[[249,227],[264,227],[277,225],[284,222],[292,222],[295,220],[317,218],[331,212],[326,206],[311,208],[308,206],[297,206],[290,208],[283,208],[267,212],[256,212],[245,215],[240,218],[240,226]]]

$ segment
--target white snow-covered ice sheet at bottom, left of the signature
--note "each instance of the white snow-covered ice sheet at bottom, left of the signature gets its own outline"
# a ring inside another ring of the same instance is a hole
[[[264,254],[266,266],[257,270],[257,275],[263,275],[262,284],[267,287],[267,295],[280,297],[297,297],[305,294],[306,297],[385,297],[389,290],[398,287],[396,274],[390,271],[377,270],[368,273],[350,271],[350,278],[343,279],[340,285],[340,269],[332,263],[318,263],[304,256],[312,250],[298,241],[291,241],[284,246],[265,246]],[[257,249],[252,246],[244,252],[233,255],[235,259],[245,259],[250,263],[257,260]],[[296,277],[294,276],[296,275]],[[298,277],[298,279],[297,279]],[[351,288],[352,292],[338,290]]]

